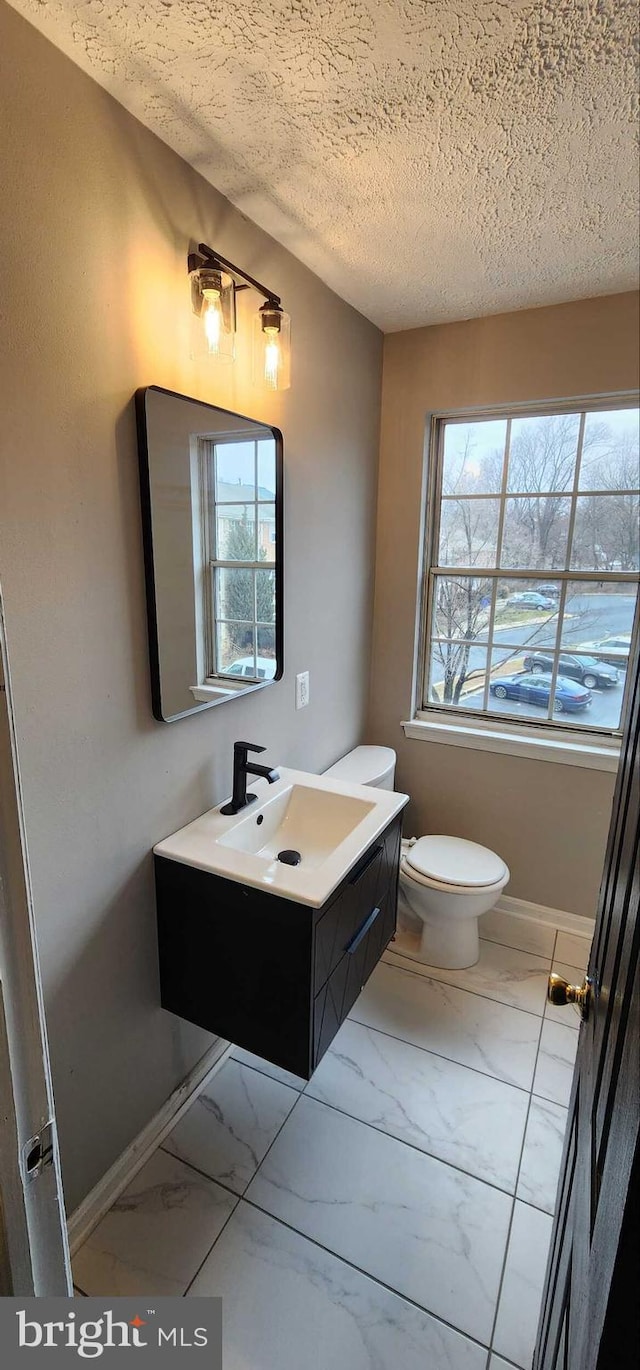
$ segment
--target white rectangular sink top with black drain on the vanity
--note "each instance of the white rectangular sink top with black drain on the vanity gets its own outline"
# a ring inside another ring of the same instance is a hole
[[[238,814],[211,808],[155,854],[319,908],[408,803],[407,795],[284,769],[274,785],[251,778],[251,792],[256,799]],[[278,860],[282,852],[297,854],[299,864]]]

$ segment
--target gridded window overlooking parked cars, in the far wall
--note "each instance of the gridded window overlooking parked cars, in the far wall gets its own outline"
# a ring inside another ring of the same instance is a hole
[[[618,734],[639,586],[637,407],[443,416],[432,451],[419,718]]]

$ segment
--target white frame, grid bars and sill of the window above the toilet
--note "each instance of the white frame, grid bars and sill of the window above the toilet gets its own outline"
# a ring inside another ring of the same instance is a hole
[[[637,588],[639,574],[637,573],[617,573],[617,571],[573,571],[565,569],[563,571],[540,571],[540,570],[522,570],[514,571],[511,569],[492,567],[488,571],[478,567],[440,567],[437,564],[437,548],[440,537],[440,515],[441,515],[441,480],[443,480],[443,452],[444,452],[444,430],[447,422],[478,422],[482,419],[507,419],[513,421],[519,416],[544,416],[555,414],[580,414],[580,436],[578,436],[578,455],[576,462],[574,485],[573,490],[567,492],[571,495],[571,526],[567,536],[567,558],[570,555],[570,543],[573,533],[573,519],[576,510],[576,497],[578,495],[589,495],[589,490],[580,490],[580,459],[581,459],[581,445],[585,425],[585,415],[588,412],[607,411],[611,408],[637,408],[639,396],[633,392],[611,393],[600,396],[581,396],[577,399],[562,400],[562,401],[545,401],[545,403],[521,403],[508,406],[491,406],[482,408],[465,408],[456,411],[437,411],[429,416],[428,421],[428,437],[426,437],[426,484],[425,484],[425,510],[422,518],[423,527],[423,543],[422,543],[422,558],[421,558],[421,575],[419,575],[419,614],[418,614],[418,632],[417,632],[417,652],[414,663],[414,710],[413,718],[403,722],[403,729],[407,737],[419,741],[437,741],[454,747],[470,747],[478,751],[493,751],[506,752],[508,755],[529,756],[536,760],[545,762],[561,762],[563,764],[584,766],[588,769],[598,770],[617,770],[618,756],[619,756],[619,741],[622,732],[622,722],[625,718],[625,711],[628,708],[630,681],[626,678],[625,695],[621,704],[621,726],[619,729],[598,729],[598,727],[580,727],[580,725],[567,725],[566,722],[556,722],[552,718],[541,719],[528,719],[521,722],[518,719],[511,719],[500,714],[488,712],[471,712],[469,708],[447,706],[447,708],[439,708],[434,704],[423,703],[426,695],[426,684],[429,675],[429,649],[430,649],[430,621],[433,612],[433,586],[436,577],[440,575],[481,575],[482,578],[491,580],[493,582],[492,589],[492,603],[489,610],[489,627],[493,627],[495,611],[496,611],[496,595],[497,595],[497,581],[502,578],[508,580],[522,580],[522,581],[540,581],[548,580],[550,582],[556,582],[561,585],[561,597],[558,604],[558,625],[562,623],[562,614],[565,608],[566,589],[569,584],[576,584],[580,581],[617,581],[625,584],[633,584]],[[507,455],[508,455],[508,437],[507,432]],[[503,521],[504,499],[506,490],[506,471],[507,460],[504,460],[503,467],[503,486],[502,490],[493,496],[500,500],[500,523]],[[603,493],[603,492],[599,492]],[[508,492],[513,495],[513,492]],[[496,558],[497,560],[497,558]],[[636,611],[636,627],[637,632],[637,611]],[[633,645],[633,644],[632,644]],[[550,649],[551,651],[551,649]],[[554,653],[559,651],[559,638],[552,648]],[[555,678],[558,675],[558,660],[554,663],[552,673],[552,689],[555,686]]]

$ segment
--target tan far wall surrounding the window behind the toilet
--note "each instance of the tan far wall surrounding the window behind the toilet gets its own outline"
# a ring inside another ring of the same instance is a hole
[[[406,740],[426,415],[637,385],[637,296],[502,314],[385,338],[370,741],[397,749],[406,830],[495,847],[508,893],[595,915],[614,775]]]

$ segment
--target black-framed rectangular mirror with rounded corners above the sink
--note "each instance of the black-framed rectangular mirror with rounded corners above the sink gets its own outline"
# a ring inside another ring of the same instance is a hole
[[[153,717],[284,671],[282,434],[149,385],[136,395]]]

